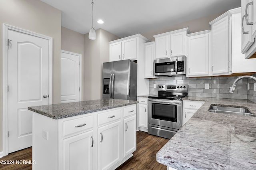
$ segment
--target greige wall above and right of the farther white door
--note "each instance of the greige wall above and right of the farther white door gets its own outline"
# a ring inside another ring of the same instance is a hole
[[[61,27],[61,49],[82,55],[84,63],[84,34],[80,34],[65,27]],[[82,87],[84,87],[84,64],[82,67]],[[84,88],[81,87],[82,101],[84,99]]]

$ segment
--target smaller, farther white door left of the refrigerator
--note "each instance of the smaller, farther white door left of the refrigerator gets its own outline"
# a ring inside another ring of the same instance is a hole
[[[60,101],[61,103],[80,101],[80,56],[61,52],[60,58]]]

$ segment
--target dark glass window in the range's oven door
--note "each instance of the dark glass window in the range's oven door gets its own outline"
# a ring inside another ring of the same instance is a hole
[[[152,103],[152,119],[177,122],[177,105]]]

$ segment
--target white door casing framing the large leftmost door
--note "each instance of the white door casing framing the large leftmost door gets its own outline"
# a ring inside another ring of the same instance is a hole
[[[14,30],[31,36],[44,38],[49,42],[49,105],[52,104],[52,38],[24,30],[8,24],[3,24],[3,156],[8,155],[8,30]]]

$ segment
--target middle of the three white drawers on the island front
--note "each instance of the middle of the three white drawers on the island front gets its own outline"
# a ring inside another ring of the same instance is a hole
[[[118,119],[120,119],[120,117],[121,117],[121,109],[116,109],[114,111],[99,113],[98,114],[98,125],[102,125],[104,123],[118,120]]]

